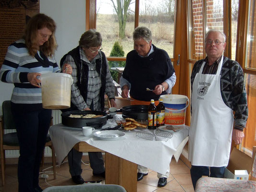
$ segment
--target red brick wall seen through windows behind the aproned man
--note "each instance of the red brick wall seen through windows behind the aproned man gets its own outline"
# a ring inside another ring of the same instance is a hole
[[[216,2],[216,0],[215,0]],[[222,1],[220,1],[222,2]],[[206,10],[206,27],[208,30],[216,29],[223,31],[223,11],[222,4],[214,4],[214,0],[207,0]],[[203,33],[203,0],[192,0],[193,13],[193,29],[194,29],[194,43],[195,43],[195,58],[203,57],[204,53],[204,33]]]

